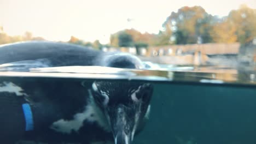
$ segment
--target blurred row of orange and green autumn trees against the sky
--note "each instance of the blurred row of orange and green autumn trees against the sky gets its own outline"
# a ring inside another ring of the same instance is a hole
[[[153,20],[152,20],[153,21]],[[167,16],[158,34],[141,33],[136,29],[124,29],[110,35],[109,45],[114,47],[148,47],[171,44],[204,44],[204,43],[248,43],[256,38],[256,9],[241,5],[231,10],[228,16],[219,17],[207,13],[200,6],[182,7]],[[9,36],[0,26],[0,44],[24,40],[43,40],[33,37],[32,33]],[[79,44],[101,49],[99,40],[85,42],[71,37],[68,43]]]

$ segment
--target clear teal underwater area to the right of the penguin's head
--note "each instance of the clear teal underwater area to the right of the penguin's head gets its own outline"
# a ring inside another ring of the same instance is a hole
[[[256,143],[255,121],[255,87],[157,83],[135,143]]]

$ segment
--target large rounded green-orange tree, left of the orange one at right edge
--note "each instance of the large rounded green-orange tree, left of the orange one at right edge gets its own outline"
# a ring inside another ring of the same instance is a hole
[[[209,35],[212,25],[212,16],[202,7],[194,6],[182,7],[177,13],[172,12],[162,26],[169,38],[173,36],[176,44],[195,44],[199,38],[202,43],[211,42]]]

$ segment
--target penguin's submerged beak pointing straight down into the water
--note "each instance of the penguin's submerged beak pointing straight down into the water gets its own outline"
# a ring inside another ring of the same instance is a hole
[[[115,144],[130,144],[133,139],[135,123],[132,121],[134,118],[129,116],[127,109],[124,105],[120,105],[109,113]]]

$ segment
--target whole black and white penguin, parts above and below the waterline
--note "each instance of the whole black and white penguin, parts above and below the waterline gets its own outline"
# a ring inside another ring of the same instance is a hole
[[[38,68],[73,65],[143,68],[137,57],[126,53],[106,53],[48,41],[0,46],[0,64],[7,63]],[[20,133],[15,136],[49,143],[114,141],[115,144],[130,144],[149,112],[152,84],[100,80],[82,84],[75,80],[0,81],[0,103],[3,103],[1,98],[4,95],[21,95],[19,103],[22,106],[26,104],[30,109],[28,113],[32,114],[31,128],[16,130]],[[1,105],[0,108],[4,109]],[[24,112],[25,108],[22,108]],[[3,117],[0,122],[4,119],[2,113],[0,110],[0,117]],[[7,118],[5,121],[8,121]],[[16,121],[19,119],[16,118]],[[25,116],[22,124],[26,122]],[[4,128],[10,129],[8,124]],[[8,137],[7,131],[2,129],[0,134]],[[15,137],[9,137],[8,140],[14,141]]]

